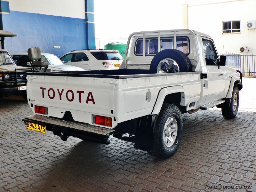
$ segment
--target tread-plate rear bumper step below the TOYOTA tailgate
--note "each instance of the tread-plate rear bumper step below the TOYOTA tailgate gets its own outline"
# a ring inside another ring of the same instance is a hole
[[[72,136],[82,140],[90,140],[103,144],[109,144],[109,135],[115,131],[105,127],[65,121],[41,115],[26,116],[22,121],[25,123],[31,122],[39,125],[46,125],[46,130],[52,131],[55,135],[61,136],[61,133],[64,133],[68,137]]]

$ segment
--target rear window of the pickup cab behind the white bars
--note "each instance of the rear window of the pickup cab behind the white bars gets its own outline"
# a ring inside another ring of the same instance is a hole
[[[146,38],[145,43],[145,53],[146,56],[154,56],[158,53],[158,39],[157,37]],[[173,47],[173,37],[161,37],[160,38],[160,51],[165,49],[172,49]],[[177,37],[176,38],[176,49],[182,51],[183,53],[189,53],[189,39],[188,37]],[[134,53],[136,56],[143,56],[143,38],[138,38],[135,43]]]

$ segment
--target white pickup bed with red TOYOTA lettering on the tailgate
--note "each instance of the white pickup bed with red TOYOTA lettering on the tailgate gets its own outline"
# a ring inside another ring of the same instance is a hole
[[[153,114],[160,91],[181,90],[183,106],[199,100],[201,72],[148,74],[149,70],[120,69],[28,73],[28,103],[48,107],[46,116],[71,114],[77,122],[92,123],[93,115],[118,123]],[[62,92],[61,92],[62,91]],[[148,100],[146,99],[148,96]],[[159,98],[158,98],[159,96]]]

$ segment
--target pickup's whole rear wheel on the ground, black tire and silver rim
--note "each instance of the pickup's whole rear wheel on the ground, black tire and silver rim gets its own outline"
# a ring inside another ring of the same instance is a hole
[[[154,128],[154,147],[150,155],[166,159],[174,155],[180,145],[182,117],[173,104],[163,104]]]

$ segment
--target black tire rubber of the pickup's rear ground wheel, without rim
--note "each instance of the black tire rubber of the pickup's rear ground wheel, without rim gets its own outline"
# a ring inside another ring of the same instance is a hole
[[[171,147],[166,147],[163,140],[164,125],[169,117],[174,117],[177,121],[177,137]],[[182,135],[182,116],[180,109],[173,104],[164,103],[156,120],[156,126],[153,131],[154,147],[148,154],[156,158],[166,159],[174,155],[180,145]]]

